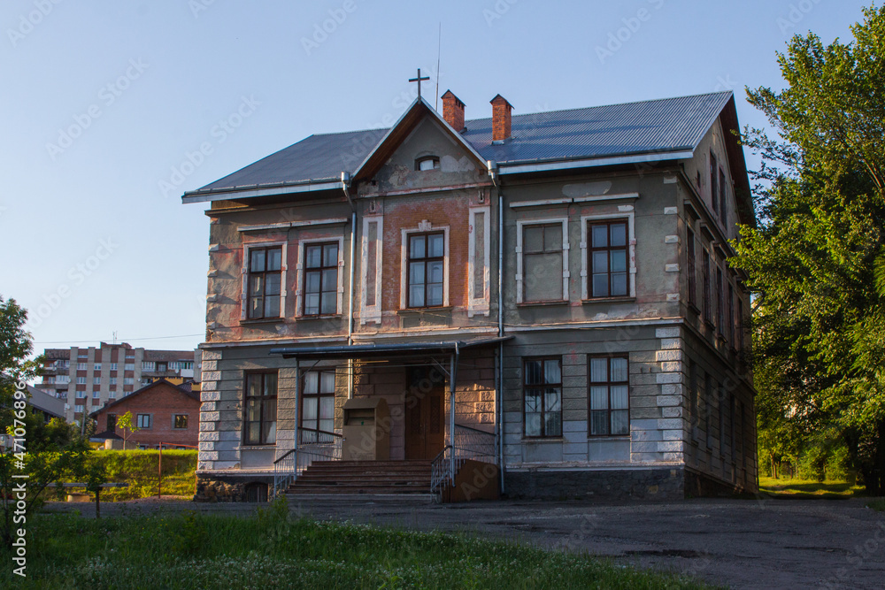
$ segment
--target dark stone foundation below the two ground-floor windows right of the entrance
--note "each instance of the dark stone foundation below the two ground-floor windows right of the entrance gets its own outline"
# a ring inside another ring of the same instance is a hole
[[[540,500],[681,500],[685,471],[681,467],[643,470],[536,470],[504,472],[504,491],[511,498]]]

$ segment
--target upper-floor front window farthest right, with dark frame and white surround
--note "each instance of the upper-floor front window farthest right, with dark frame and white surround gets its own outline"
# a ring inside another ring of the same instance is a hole
[[[589,234],[590,296],[627,295],[627,220],[592,223]]]

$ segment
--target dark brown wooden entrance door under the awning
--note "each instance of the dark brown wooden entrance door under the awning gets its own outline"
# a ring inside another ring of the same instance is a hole
[[[406,370],[405,459],[433,459],[445,443],[445,376],[432,367]]]

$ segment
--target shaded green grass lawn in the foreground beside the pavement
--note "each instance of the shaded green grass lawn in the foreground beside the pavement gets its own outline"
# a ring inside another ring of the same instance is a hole
[[[707,588],[590,556],[447,533],[418,533],[289,517],[204,515],[28,521],[31,588]],[[4,563],[11,563],[5,548]]]

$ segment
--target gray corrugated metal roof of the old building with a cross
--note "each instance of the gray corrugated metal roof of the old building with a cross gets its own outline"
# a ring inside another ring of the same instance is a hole
[[[492,144],[492,119],[466,121],[467,142],[499,165],[693,150],[731,92],[514,115],[511,138]],[[388,129],[311,135],[188,195],[339,180]]]

